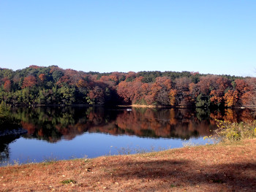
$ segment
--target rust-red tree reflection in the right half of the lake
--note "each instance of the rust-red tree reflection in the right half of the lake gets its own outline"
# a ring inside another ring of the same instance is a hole
[[[116,122],[123,130],[141,137],[186,138],[209,135],[208,120],[198,120],[189,110],[151,110],[143,115],[138,110],[118,115]]]

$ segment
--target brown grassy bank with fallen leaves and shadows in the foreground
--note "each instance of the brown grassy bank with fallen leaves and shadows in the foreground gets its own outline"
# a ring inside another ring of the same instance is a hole
[[[256,139],[0,167],[0,191],[256,191]]]

